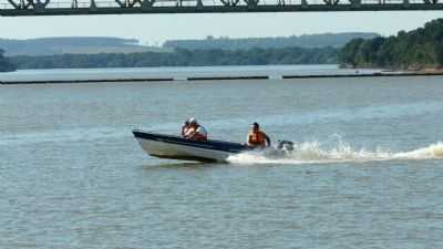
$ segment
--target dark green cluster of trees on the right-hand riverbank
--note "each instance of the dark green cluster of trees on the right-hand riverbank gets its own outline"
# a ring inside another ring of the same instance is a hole
[[[354,39],[339,53],[342,65],[421,70],[443,66],[443,19],[389,38]]]

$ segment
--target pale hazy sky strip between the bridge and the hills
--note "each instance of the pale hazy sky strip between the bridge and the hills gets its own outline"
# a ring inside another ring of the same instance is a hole
[[[300,35],[364,31],[383,35],[411,30],[443,11],[136,14],[0,18],[0,38],[120,37],[142,43],[171,39]]]

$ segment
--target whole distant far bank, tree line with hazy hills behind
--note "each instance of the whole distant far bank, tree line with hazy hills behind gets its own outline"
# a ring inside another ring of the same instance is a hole
[[[162,48],[119,38],[0,40],[18,69],[140,68],[338,63],[338,51],[354,38],[377,33],[326,33],[287,38],[166,41]],[[31,55],[31,56],[30,56]]]

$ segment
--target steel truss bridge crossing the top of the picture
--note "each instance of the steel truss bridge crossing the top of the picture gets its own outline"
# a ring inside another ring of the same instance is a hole
[[[443,10],[443,0],[0,0],[0,15]]]

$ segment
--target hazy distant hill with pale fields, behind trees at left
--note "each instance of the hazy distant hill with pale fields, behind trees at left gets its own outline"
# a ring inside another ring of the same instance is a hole
[[[121,38],[39,38],[28,40],[0,39],[0,48],[9,55],[53,55],[63,53],[135,53],[158,48],[140,45],[138,40]]]

